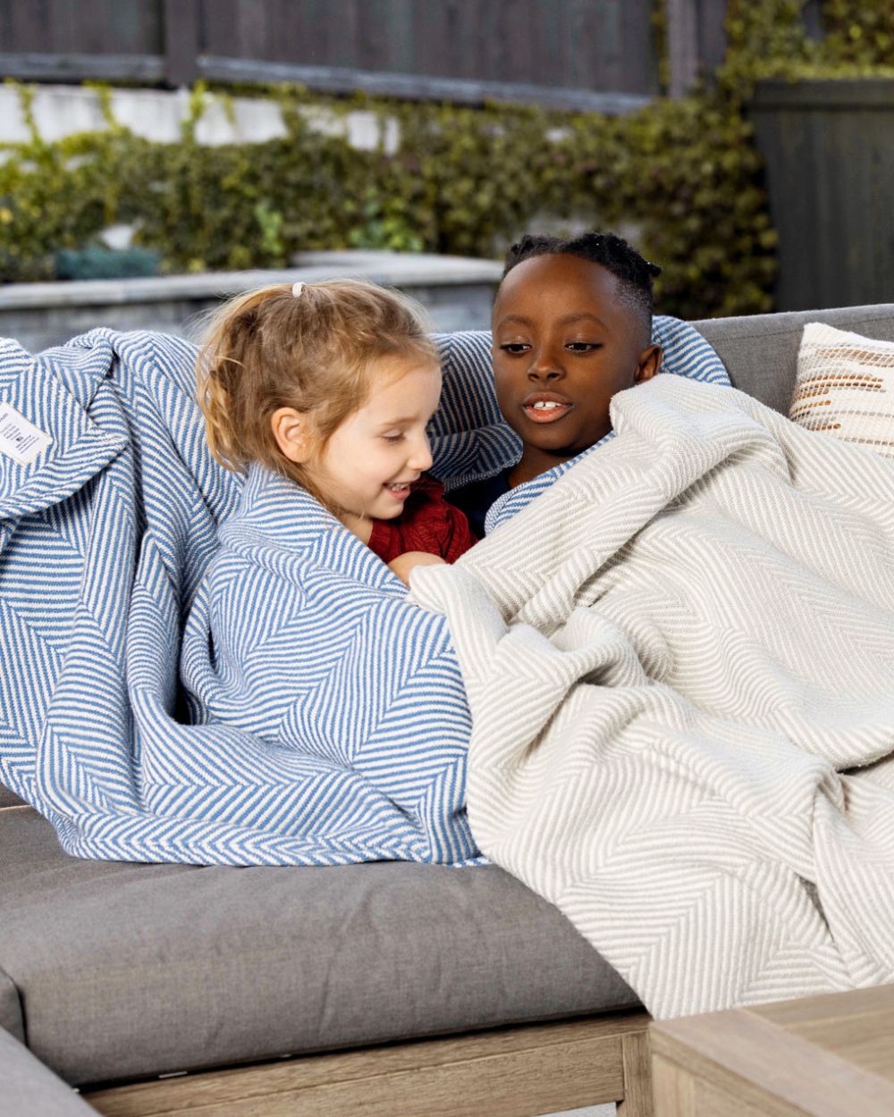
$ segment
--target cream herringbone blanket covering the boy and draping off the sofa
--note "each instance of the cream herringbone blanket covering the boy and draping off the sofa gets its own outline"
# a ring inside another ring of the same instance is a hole
[[[658,1018],[894,981],[894,462],[659,376],[454,567],[468,808]]]

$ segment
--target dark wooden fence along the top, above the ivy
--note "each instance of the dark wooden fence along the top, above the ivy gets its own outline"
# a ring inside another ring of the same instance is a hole
[[[725,0],[667,0],[672,92],[723,56]],[[654,0],[0,0],[0,77],[298,82],[625,112],[658,92]]]

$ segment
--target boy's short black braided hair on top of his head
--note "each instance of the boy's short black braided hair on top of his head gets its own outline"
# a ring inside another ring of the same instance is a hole
[[[622,237],[616,237],[614,232],[583,232],[579,237],[563,239],[525,233],[506,252],[504,278],[533,256],[577,256],[598,264],[619,280],[620,297],[638,313],[644,325],[652,325],[652,280],[662,274],[662,269],[641,257]]]

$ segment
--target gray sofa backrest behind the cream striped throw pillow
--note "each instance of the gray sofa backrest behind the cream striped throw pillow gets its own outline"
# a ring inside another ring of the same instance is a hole
[[[788,414],[798,346],[808,322],[894,341],[894,304],[847,306],[835,311],[754,314],[743,318],[705,318],[693,325],[714,346],[736,388]]]

